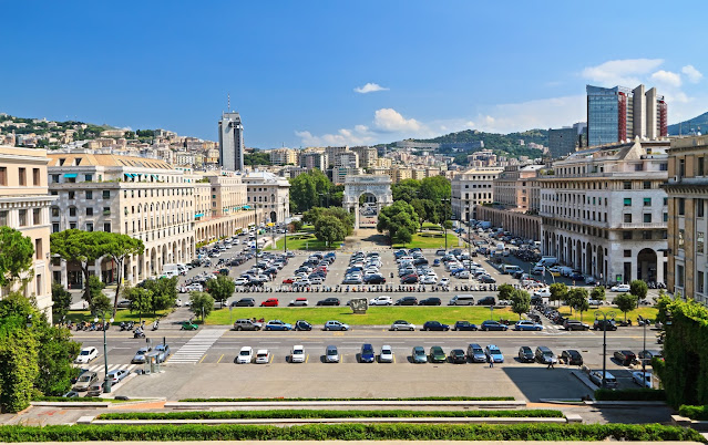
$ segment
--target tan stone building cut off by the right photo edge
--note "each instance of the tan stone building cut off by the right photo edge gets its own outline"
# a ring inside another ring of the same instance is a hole
[[[668,153],[667,287],[708,306],[708,136],[673,139]]]

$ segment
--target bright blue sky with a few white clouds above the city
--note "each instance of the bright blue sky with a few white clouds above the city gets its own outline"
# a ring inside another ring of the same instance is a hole
[[[0,112],[217,139],[230,94],[247,146],[356,145],[570,125],[585,120],[585,84],[645,83],[674,123],[708,111],[702,12],[699,1],[3,1]]]

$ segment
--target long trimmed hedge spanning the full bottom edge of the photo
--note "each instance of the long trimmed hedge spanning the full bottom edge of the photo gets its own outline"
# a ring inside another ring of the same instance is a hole
[[[659,424],[413,425],[50,425],[0,426],[0,442],[89,441],[694,441],[695,430]]]

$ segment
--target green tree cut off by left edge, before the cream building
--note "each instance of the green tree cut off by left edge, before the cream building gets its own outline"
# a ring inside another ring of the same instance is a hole
[[[34,247],[30,237],[11,229],[0,227],[0,288],[14,283],[21,276],[32,268]]]

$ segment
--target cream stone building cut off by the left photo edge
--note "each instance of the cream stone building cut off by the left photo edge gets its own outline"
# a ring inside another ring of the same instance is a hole
[[[24,288],[0,288],[0,299],[22,290],[34,296],[38,308],[52,321],[52,291],[49,270],[49,209],[54,200],[47,187],[47,152],[0,146],[0,226],[9,226],[29,237],[34,246],[31,277]]]

